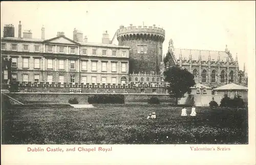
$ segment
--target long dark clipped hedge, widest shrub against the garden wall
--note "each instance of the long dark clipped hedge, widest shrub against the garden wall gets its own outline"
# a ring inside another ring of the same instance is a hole
[[[107,95],[94,95],[88,97],[90,104],[123,104],[124,95],[122,94],[107,94]]]

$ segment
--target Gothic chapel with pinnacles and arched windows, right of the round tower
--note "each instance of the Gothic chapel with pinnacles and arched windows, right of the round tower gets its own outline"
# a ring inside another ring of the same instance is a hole
[[[225,51],[175,48],[169,40],[165,67],[174,65],[186,69],[194,75],[197,84],[217,88],[231,82],[247,86],[248,77],[244,70],[239,70],[238,57],[233,59],[227,46]]]

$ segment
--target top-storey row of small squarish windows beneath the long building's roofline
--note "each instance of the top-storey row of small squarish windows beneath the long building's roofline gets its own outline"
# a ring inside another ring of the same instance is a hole
[[[5,50],[6,49],[6,44],[2,43],[1,44],[1,49]],[[11,44],[11,49],[12,50],[17,50],[17,44]],[[74,54],[75,53],[75,47],[70,47],[70,53]],[[23,45],[23,50],[24,51],[29,51],[29,45]],[[34,45],[34,51],[39,52],[40,51],[40,45]],[[46,46],[46,51],[47,52],[53,52],[53,46],[47,45]],[[65,53],[65,46],[58,46],[57,51],[59,53]],[[81,48],[81,53],[83,55],[87,55],[87,48]],[[92,49],[92,54],[97,55],[97,49]],[[106,56],[106,50],[102,50],[102,56]],[[116,56],[116,50],[112,50],[112,56]],[[126,51],[122,51],[122,57],[126,57]]]

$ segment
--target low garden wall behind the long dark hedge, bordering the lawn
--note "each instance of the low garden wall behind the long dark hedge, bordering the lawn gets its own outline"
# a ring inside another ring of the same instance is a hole
[[[25,103],[67,104],[70,98],[77,98],[79,103],[88,103],[88,97],[98,93],[9,93],[12,98]],[[125,103],[147,102],[151,97],[158,97],[162,103],[171,103],[168,94],[123,94]]]

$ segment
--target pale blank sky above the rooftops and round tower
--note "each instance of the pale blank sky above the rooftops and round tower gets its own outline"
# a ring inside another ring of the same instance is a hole
[[[103,31],[112,39],[120,25],[144,22],[165,30],[164,54],[173,39],[177,48],[224,51],[227,45],[233,58],[238,53],[241,70],[255,57],[254,1],[1,2],[1,36],[5,24],[14,24],[17,37],[19,20],[22,32],[32,30],[33,38],[41,38],[44,25],[46,39],[57,32],[73,39],[76,28],[96,43]]]

